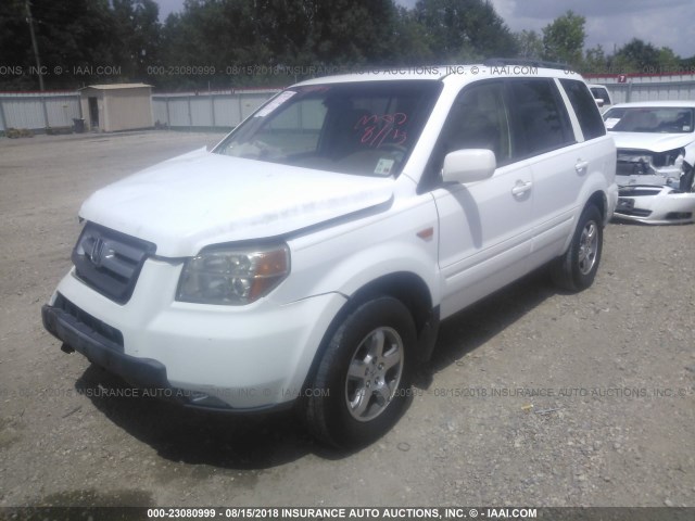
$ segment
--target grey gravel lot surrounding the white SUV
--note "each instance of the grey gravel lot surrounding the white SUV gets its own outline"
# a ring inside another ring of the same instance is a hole
[[[0,507],[695,506],[693,226],[611,224],[590,290],[539,272],[445,322],[405,417],[358,453],[291,415],[109,396],[125,384],[40,320],[79,205],[219,138],[0,139]]]

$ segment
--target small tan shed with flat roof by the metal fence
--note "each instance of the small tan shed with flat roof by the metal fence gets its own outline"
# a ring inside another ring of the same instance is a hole
[[[88,130],[115,132],[154,126],[150,85],[90,85],[79,89],[79,97]]]

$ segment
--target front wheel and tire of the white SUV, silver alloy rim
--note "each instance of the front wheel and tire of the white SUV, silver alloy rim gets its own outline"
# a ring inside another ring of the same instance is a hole
[[[387,433],[409,395],[415,343],[413,317],[400,301],[382,296],[354,309],[330,339],[306,393],[309,432],[343,449]]]

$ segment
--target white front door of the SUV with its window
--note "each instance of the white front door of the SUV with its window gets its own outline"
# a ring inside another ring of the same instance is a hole
[[[533,176],[528,161],[515,160],[507,105],[502,80],[465,88],[434,152],[433,168],[441,168],[446,153],[462,149],[489,149],[497,161],[490,179],[432,190],[440,218],[442,318],[529,270]]]

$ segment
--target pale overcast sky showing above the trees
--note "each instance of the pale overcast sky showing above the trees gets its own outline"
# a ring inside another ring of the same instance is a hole
[[[396,0],[412,8],[416,0]],[[568,10],[586,18],[585,47],[601,43],[606,53],[640,38],[670,47],[681,58],[695,55],[695,0],[491,0],[509,28],[538,30]],[[164,20],[184,0],[157,0]]]

